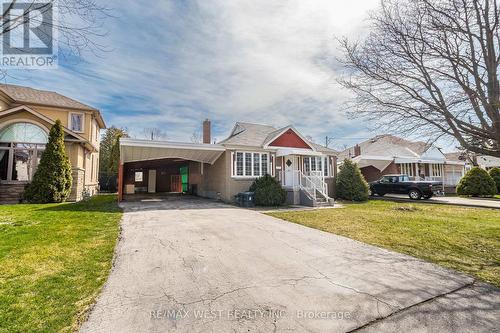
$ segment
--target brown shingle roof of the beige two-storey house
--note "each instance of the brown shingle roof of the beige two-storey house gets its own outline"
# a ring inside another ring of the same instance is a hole
[[[105,127],[104,120],[98,109],[54,91],[34,89],[14,84],[0,84],[0,91],[7,95],[14,103],[54,106],[95,112],[101,127]]]

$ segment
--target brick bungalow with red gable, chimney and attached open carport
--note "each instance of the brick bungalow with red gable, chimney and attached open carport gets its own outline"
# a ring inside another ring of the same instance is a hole
[[[122,139],[120,199],[190,192],[231,202],[256,178],[269,174],[287,190],[291,204],[332,202],[337,152],[309,141],[291,125],[237,122],[228,138],[214,144],[206,120],[203,142]]]

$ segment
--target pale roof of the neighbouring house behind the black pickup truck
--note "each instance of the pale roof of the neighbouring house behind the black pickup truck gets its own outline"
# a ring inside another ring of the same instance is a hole
[[[409,141],[400,137],[383,134],[358,144],[361,155],[388,156],[388,157],[419,157],[431,145],[422,141]],[[342,159],[354,156],[354,147],[347,148],[340,153]]]

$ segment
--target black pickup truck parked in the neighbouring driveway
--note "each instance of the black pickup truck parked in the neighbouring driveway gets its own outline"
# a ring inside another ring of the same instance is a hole
[[[429,199],[439,193],[442,183],[435,181],[413,181],[408,175],[385,175],[370,183],[372,195],[383,196],[387,193],[408,194],[410,199]]]

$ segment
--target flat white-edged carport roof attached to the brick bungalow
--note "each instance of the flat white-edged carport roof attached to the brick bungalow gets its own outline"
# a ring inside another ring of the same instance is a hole
[[[123,163],[181,158],[214,164],[226,149],[216,144],[120,139],[120,159]]]

